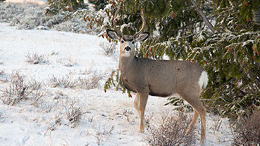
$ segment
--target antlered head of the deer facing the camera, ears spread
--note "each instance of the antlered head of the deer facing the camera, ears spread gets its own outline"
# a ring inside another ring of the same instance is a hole
[[[149,32],[142,32],[145,26],[144,21],[144,10],[142,10],[142,28],[139,32],[135,33],[134,35],[124,35],[116,28],[116,19],[120,17],[120,15],[116,16],[119,11],[119,7],[114,15],[113,18],[113,27],[115,30],[106,29],[106,33],[111,39],[118,40],[120,43],[120,56],[129,57],[135,55],[135,42],[137,41],[144,41],[149,37]]]

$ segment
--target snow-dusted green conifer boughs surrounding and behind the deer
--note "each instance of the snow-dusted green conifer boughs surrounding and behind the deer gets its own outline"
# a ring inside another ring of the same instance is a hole
[[[117,25],[123,34],[140,29],[140,10],[144,8],[145,30],[151,37],[136,49],[137,57],[188,60],[204,67],[209,74],[209,84],[202,93],[204,105],[225,117],[236,119],[252,106],[260,109],[260,32],[253,21],[260,1],[197,0],[197,4],[214,20],[216,32],[205,27],[190,1],[110,1],[104,10],[85,11],[83,16],[90,26],[97,27],[99,36],[111,41],[105,30],[113,29],[117,7]],[[104,88],[112,86],[125,90],[119,73],[111,74]],[[169,99],[170,103],[181,103]]]

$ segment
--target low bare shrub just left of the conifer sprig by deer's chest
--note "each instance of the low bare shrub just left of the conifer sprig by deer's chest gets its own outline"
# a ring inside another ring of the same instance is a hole
[[[102,79],[100,75],[94,74],[89,79],[85,78],[78,78],[77,81],[77,86],[78,88],[83,88],[83,89],[93,89],[93,88],[98,88],[99,87],[99,81]]]

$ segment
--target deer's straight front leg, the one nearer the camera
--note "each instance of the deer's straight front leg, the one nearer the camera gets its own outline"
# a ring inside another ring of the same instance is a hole
[[[139,94],[139,109],[140,109],[140,130],[139,132],[142,133],[144,131],[144,124],[146,124],[144,119],[144,110],[147,105],[148,100],[148,93],[137,93]]]

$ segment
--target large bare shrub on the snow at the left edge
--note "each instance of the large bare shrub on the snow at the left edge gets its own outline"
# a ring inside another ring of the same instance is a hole
[[[25,76],[19,71],[13,71],[8,86],[1,91],[1,98],[6,105],[15,105],[23,100],[30,92],[25,84]]]

